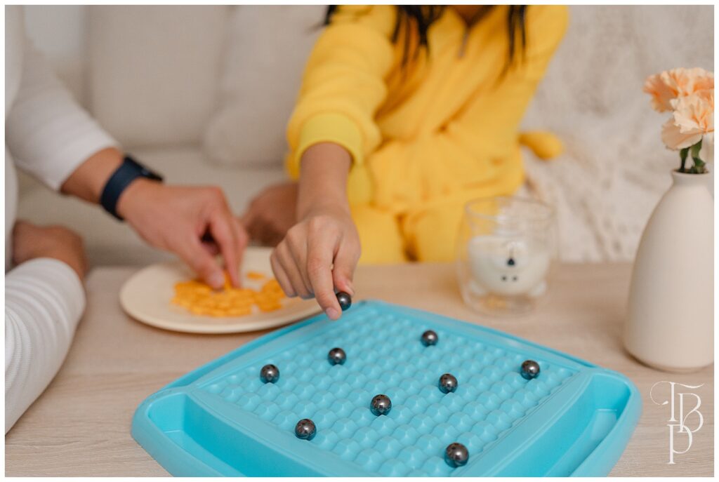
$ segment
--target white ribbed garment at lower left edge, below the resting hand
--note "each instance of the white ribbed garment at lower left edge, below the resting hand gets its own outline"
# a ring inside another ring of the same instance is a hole
[[[83,284],[61,261],[33,259],[5,275],[5,433],[60,369],[83,310]]]

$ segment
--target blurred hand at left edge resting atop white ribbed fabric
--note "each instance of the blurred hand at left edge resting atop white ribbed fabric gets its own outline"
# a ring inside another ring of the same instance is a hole
[[[12,230],[12,261],[22,264],[37,258],[63,261],[80,279],[85,277],[87,261],[83,240],[63,226],[36,226],[17,221]]]

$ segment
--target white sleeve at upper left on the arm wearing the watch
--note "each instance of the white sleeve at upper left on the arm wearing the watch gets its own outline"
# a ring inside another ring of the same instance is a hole
[[[88,157],[117,142],[78,106],[32,42],[22,42],[22,76],[5,119],[5,142],[18,167],[58,190]]]

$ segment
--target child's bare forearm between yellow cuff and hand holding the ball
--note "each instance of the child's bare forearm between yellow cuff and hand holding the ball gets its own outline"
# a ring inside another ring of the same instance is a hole
[[[323,205],[346,207],[347,175],[352,157],[332,142],[315,144],[305,151],[300,166],[297,218]]]

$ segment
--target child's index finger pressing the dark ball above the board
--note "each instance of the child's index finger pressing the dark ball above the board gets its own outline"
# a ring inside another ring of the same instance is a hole
[[[342,314],[342,308],[334,295],[332,281],[332,256],[336,237],[327,235],[326,232],[310,234],[307,242],[306,272],[317,303],[330,320],[336,320]]]

